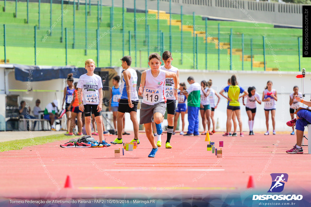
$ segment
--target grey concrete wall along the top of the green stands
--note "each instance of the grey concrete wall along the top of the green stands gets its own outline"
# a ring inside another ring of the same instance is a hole
[[[96,3],[96,0],[91,2]],[[103,1],[111,6],[111,1]],[[122,7],[122,0],[114,0],[114,6]],[[248,0],[172,0],[172,13],[226,18],[233,20],[266,22],[280,25],[302,26],[301,4],[280,4],[276,2],[257,2]],[[134,1],[125,1],[125,7],[134,8]],[[145,0],[136,0],[136,9],[145,10]],[[157,9],[156,0],[147,1],[147,9]],[[160,0],[159,9],[169,13],[169,0]]]

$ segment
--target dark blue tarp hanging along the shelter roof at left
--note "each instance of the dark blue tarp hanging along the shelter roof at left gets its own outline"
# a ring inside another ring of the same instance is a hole
[[[69,73],[73,73],[74,78],[79,78],[86,73],[85,68],[75,66],[30,66],[14,64],[15,79],[20,81],[44,81],[52,79],[66,79]],[[100,71],[96,68],[95,71]]]

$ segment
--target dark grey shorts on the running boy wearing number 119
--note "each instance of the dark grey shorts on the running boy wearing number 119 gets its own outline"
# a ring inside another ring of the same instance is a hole
[[[160,102],[155,105],[148,105],[142,103],[140,106],[140,121],[139,124],[148,124],[153,122],[153,115],[156,112],[161,113],[163,116],[166,111],[166,103]]]

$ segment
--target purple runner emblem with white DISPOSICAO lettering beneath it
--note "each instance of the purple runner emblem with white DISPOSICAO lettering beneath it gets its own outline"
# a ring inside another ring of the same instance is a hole
[[[268,193],[279,193],[284,190],[285,182],[288,180],[287,173],[271,173],[272,184]],[[253,195],[253,200],[302,200],[302,195]]]

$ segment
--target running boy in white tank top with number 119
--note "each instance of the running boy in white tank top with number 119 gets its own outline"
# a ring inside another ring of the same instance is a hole
[[[162,133],[162,128],[159,126],[161,126],[166,111],[166,98],[164,96],[165,79],[173,78],[175,98],[179,88],[176,73],[160,70],[160,59],[161,56],[157,53],[152,53],[149,56],[148,64],[151,69],[145,70],[142,73],[142,80],[138,90],[138,95],[143,97],[140,109],[140,124],[144,124],[147,138],[152,146],[148,157],[155,157],[158,151],[158,146],[152,133],[153,121],[156,123],[157,133]]]

